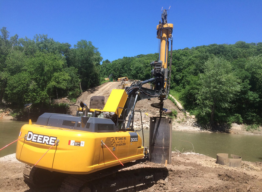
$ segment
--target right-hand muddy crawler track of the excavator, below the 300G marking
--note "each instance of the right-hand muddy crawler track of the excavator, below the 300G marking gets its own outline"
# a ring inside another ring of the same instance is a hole
[[[165,179],[168,170],[161,164],[130,162],[87,175],[70,174],[62,182],[60,192],[137,191]]]

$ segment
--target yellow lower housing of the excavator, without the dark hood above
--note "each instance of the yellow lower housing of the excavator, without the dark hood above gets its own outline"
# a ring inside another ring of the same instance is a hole
[[[16,158],[28,165],[37,161],[58,139],[59,143],[43,156],[36,167],[69,174],[88,174],[144,157],[141,137],[132,131],[87,132],[26,124],[16,147]],[[109,150],[101,145],[103,141]]]

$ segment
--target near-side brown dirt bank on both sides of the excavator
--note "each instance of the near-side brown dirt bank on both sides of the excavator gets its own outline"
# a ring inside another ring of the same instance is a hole
[[[262,163],[242,161],[237,169],[215,163],[215,159],[197,154],[172,152],[172,163],[167,165],[168,179],[160,180],[143,192],[200,192],[241,191],[255,192],[262,189]],[[33,192],[23,182],[25,164],[15,159],[15,154],[0,158],[0,191]],[[39,189],[39,192],[59,191],[57,188]]]

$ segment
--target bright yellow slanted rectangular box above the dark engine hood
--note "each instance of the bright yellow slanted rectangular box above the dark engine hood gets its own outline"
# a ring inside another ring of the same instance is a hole
[[[104,106],[103,111],[115,112],[117,114],[117,108],[119,107],[124,108],[127,97],[128,95],[126,94],[124,89],[113,89],[112,92],[110,93],[110,96],[108,97],[108,100]],[[121,112],[122,109],[119,109],[118,110],[119,117]]]

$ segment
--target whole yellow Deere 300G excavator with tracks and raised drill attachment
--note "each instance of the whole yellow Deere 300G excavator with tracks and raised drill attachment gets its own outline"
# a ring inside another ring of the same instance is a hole
[[[30,121],[21,128],[16,158],[27,164],[24,178],[29,186],[62,182],[61,192],[132,191],[167,176],[166,167],[144,163],[148,150],[133,129],[137,101],[158,97],[160,102],[152,106],[159,108],[160,116],[166,112],[163,100],[170,85],[171,59],[169,71],[167,59],[169,40],[172,56],[173,29],[166,16],[164,10],[157,25],[161,43],[159,60],[151,63],[152,78],[125,90],[113,89],[104,108],[88,108],[81,102],[76,116],[44,113],[35,124]],[[150,89],[143,87],[147,83]]]

